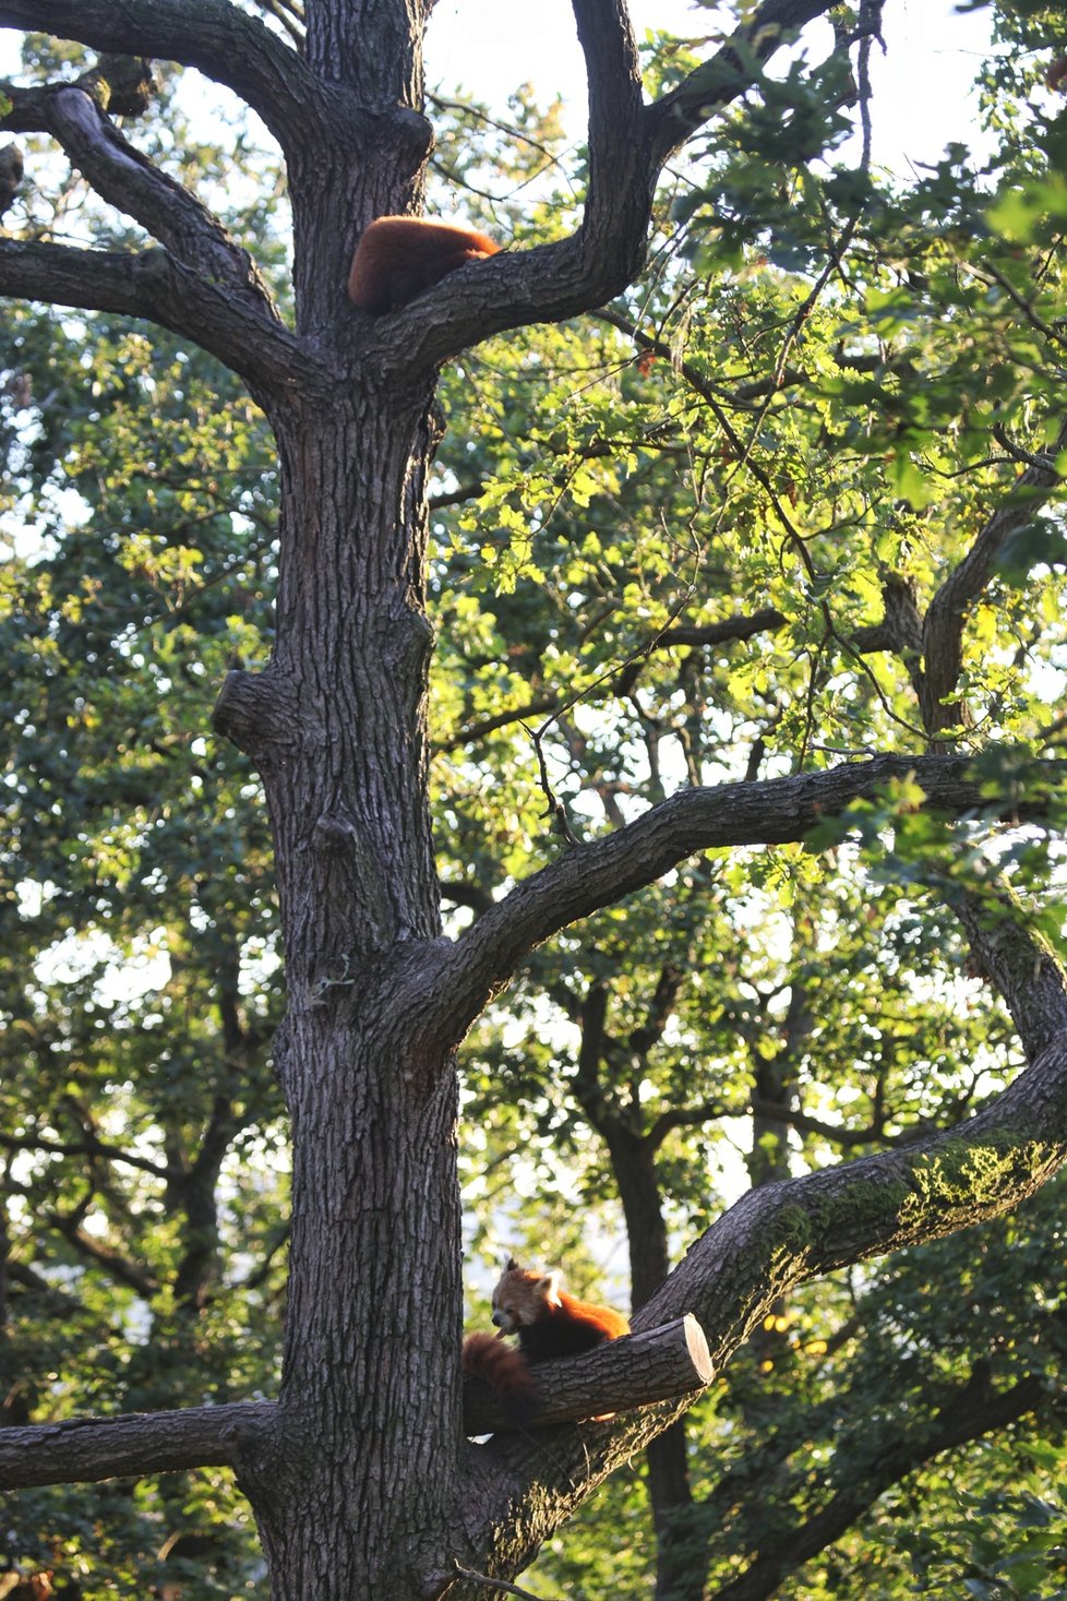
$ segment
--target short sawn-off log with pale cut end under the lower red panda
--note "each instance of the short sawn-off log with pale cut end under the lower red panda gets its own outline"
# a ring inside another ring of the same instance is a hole
[[[654,1401],[704,1390],[712,1380],[707,1340],[696,1318],[675,1318],[584,1356],[531,1369],[536,1412],[523,1430],[569,1423],[605,1412],[633,1412]],[[499,1396],[482,1378],[464,1378],[464,1433],[515,1428]]]

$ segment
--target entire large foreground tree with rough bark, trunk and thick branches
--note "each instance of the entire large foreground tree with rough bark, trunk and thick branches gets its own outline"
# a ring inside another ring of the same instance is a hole
[[[277,847],[288,967],[277,1061],[294,1164],[283,1383],[277,1407],[219,1407],[189,1430],[168,1417],[138,1425],[155,1441],[138,1471],[234,1463],[275,1601],[485,1595],[459,1569],[512,1577],[686,1404],[561,1428],[552,1452],[518,1434],[464,1439],[454,1052],[531,946],[694,850],[801,839],[893,776],[915,772],[944,810],[985,804],[966,764],[949,757],[686,791],[573,849],[459,941],[440,937],[424,588],[437,373],[490,333],[622,290],[641,264],[669,154],[745,88],[782,29],[832,0],[765,0],[741,30],[744,48],[725,46],[656,106],[641,101],[624,0],[573,0],[590,85],[581,229],[464,269],[414,311],[374,320],[350,307],[344,285],[360,231],[421,208],[429,10],[307,0],[298,53],[230,0],[0,3],[0,26],[195,66],[259,112],[288,163],[294,330],[218,221],[114,128],[106,70],[14,91],[0,118],[48,131],[158,242],[123,255],[3,240],[0,293],[126,312],[198,341],[246,379],[278,445],[277,650],[264,672],[230,677],[216,724],[256,762]],[[800,1279],[1001,1210],[1062,1161],[1062,975],[1008,913],[974,917],[971,937],[1016,1013],[1029,1073],[950,1137],[760,1188],[665,1279],[638,1329],[694,1313],[721,1364]],[[85,1471],[77,1431],[21,1433],[37,1483]],[[110,1468],[130,1462],[117,1447]]]

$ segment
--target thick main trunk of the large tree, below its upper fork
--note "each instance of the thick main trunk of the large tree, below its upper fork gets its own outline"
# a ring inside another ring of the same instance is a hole
[[[274,1595],[406,1596],[440,1569],[461,1420],[451,1042],[405,981],[434,957],[426,788],[429,395],[366,384],[274,418],[278,639],[218,720],[262,773],[288,1013],[293,1234],[278,1425],[243,1483]]]

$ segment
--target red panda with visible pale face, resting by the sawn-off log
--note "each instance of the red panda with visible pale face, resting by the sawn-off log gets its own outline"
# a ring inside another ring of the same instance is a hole
[[[630,1332],[621,1313],[579,1302],[560,1289],[558,1273],[520,1268],[514,1257],[493,1290],[493,1322],[499,1334],[472,1334],[464,1340],[462,1369],[491,1385],[515,1418],[530,1417],[534,1409],[531,1366],[555,1356],[581,1356]],[[518,1350],[501,1343],[506,1334],[518,1335]]]

